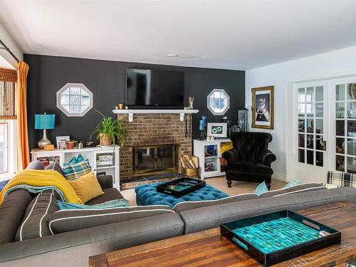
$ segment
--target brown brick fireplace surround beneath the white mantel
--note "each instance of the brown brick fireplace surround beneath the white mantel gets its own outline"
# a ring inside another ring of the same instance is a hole
[[[132,122],[125,114],[118,114],[117,118],[127,133],[125,144],[120,148],[121,181],[133,178],[134,147],[177,145],[177,159],[192,154],[192,137],[186,137],[186,122],[179,120],[179,114],[135,114]],[[191,122],[188,129],[192,135]],[[181,172],[179,160],[177,162],[178,172]]]

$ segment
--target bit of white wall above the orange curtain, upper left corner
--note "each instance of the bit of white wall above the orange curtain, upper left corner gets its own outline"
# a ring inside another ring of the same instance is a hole
[[[17,44],[11,38],[11,36],[6,31],[4,26],[1,25],[1,23],[0,23],[0,39],[1,39],[1,41],[3,41],[6,44],[7,47],[10,48],[12,53],[14,53],[14,55],[17,58],[19,58],[19,61],[21,61],[23,59],[23,53],[22,53],[21,49],[19,48],[19,46],[17,46]],[[9,54],[8,51],[6,51],[4,49],[0,49],[0,56],[2,57],[1,60],[0,60],[0,63],[1,62],[4,63],[4,61],[6,61],[7,63],[9,63],[14,68],[17,68],[16,60]],[[4,60],[3,60],[3,58],[4,58]],[[3,66],[3,68],[9,68],[9,66],[6,63],[1,64],[1,65]]]

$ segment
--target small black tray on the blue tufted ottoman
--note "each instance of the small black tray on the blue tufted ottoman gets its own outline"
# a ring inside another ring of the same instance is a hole
[[[169,188],[170,185],[176,185],[177,188]],[[157,192],[169,194],[173,197],[182,197],[203,187],[205,187],[204,181],[189,177],[182,177],[157,186]]]

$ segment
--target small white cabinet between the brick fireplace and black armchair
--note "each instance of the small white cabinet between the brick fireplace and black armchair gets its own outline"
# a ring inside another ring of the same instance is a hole
[[[220,164],[221,154],[232,147],[228,138],[214,141],[193,140],[194,156],[199,158],[200,178],[224,176],[224,166]]]

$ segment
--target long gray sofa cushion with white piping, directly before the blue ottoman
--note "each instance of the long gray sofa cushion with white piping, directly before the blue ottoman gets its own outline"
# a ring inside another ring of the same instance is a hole
[[[201,206],[214,206],[224,203],[231,203],[231,202],[238,202],[250,199],[258,199],[258,196],[253,193],[248,194],[238,194],[236,196],[231,197],[224,197],[223,199],[216,199],[216,200],[201,200],[201,201],[184,201],[179,202],[174,206],[174,211],[181,212],[187,211],[189,209],[197,209]]]

